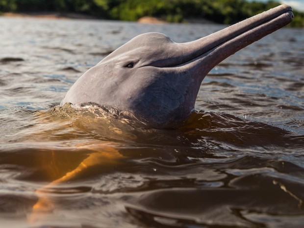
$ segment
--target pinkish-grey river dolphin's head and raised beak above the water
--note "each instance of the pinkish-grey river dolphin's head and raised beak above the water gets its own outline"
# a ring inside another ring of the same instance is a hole
[[[147,127],[177,127],[194,110],[213,67],[293,18],[292,8],[280,5],[188,43],[138,35],[80,76],[60,105],[97,103],[127,111]]]

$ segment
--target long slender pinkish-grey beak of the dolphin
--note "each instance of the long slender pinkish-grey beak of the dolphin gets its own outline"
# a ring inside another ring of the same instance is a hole
[[[279,8],[279,9],[278,9]],[[199,51],[193,51],[195,54],[183,59],[182,62],[176,64],[168,64],[167,66],[154,66],[159,68],[177,68],[191,65],[200,59],[214,58],[209,61],[212,67],[223,61],[229,55],[236,51],[252,44],[253,42],[263,38],[264,36],[278,30],[279,28],[289,24],[294,18],[292,8],[288,5],[281,5],[279,7],[270,9],[249,19],[241,21],[237,24],[230,25],[220,31],[212,33],[204,38],[183,45],[200,42],[201,47]],[[226,51],[226,53],[218,53],[219,56],[211,54],[212,52]],[[222,56],[222,57],[221,57]]]

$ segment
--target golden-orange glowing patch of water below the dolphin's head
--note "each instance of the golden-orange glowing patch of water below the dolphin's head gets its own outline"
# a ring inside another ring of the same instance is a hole
[[[35,191],[38,201],[28,216],[30,223],[56,208],[51,196],[60,191],[64,183],[101,174],[103,169],[114,169],[119,164],[123,155],[113,141],[135,136],[128,130],[128,125],[111,119],[112,116],[99,107],[75,109],[70,104],[35,113],[35,131],[29,129],[24,140],[38,145],[43,142],[44,149],[35,154],[35,164],[40,172],[36,175],[50,182]],[[95,166],[98,170],[89,169]]]

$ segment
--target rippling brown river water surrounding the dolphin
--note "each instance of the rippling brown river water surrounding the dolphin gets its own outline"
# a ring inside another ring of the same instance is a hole
[[[0,228],[304,227],[304,29],[215,67],[177,129],[57,106],[140,33],[224,27],[0,18]]]

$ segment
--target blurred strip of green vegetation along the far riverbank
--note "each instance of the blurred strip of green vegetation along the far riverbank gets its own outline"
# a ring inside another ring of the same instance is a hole
[[[233,24],[252,17],[279,2],[246,0],[0,0],[0,12],[82,13],[103,19],[136,21],[152,16],[167,22],[207,19]],[[304,12],[294,11],[290,26],[304,27]]]

